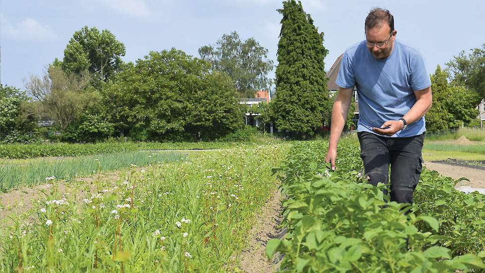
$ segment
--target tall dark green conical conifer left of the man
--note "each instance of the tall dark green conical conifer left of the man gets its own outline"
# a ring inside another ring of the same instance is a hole
[[[302,2],[283,2],[276,99],[273,115],[276,128],[313,135],[322,125],[325,101],[328,100],[327,79],[323,59],[328,51],[323,46],[323,32],[318,33]]]

